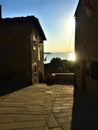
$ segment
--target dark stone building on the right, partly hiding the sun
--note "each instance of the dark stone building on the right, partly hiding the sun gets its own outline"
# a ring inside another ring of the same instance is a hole
[[[98,0],[79,0],[75,20],[75,87],[98,97]]]

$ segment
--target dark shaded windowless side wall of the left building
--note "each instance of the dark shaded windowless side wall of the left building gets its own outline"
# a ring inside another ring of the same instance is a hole
[[[29,28],[24,24],[0,25],[0,80],[2,83],[31,82]]]

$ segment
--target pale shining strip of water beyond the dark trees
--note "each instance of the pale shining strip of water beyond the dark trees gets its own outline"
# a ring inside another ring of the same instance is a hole
[[[44,63],[50,63],[50,61],[53,58],[61,58],[62,60],[73,60],[72,56],[74,55],[74,52],[67,53],[67,52],[45,52],[44,53],[44,59],[46,61]]]

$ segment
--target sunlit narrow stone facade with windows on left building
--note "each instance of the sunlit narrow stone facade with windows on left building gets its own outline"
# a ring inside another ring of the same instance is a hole
[[[44,76],[43,40],[33,29],[31,33],[32,83],[42,82]],[[34,37],[34,39],[32,39]]]

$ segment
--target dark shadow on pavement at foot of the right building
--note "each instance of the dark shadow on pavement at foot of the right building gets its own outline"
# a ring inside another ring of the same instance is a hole
[[[74,92],[71,130],[98,130],[98,102],[86,92]]]

